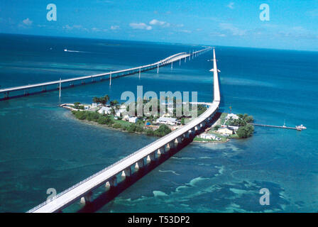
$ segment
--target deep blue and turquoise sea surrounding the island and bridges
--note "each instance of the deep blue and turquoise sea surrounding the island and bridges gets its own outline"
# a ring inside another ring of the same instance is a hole
[[[213,45],[213,43],[211,43]],[[63,50],[81,52],[64,52]],[[0,85],[89,75],[146,65],[202,47],[119,40],[0,35]],[[0,211],[27,211],[155,138],[79,122],[58,105],[125,91],[198,92],[211,101],[208,52],[160,73],[0,101]],[[221,110],[256,123],[305,124],[306,131],[256,128],[253,138],[192,143],[126,189],[100,212],[318,211],[318,53],[216,47]],[[270,206],[259,190],[270,190]],[[79,208],[74,205],[74,209]]]

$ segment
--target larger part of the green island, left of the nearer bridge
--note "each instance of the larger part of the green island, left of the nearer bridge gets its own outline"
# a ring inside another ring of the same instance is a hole
[[[160,102],[158,100],[143,100],[142,108],[146,105],[153,104],[155,101],[158,104],[158,114],[153,116],[153,112],[144,113],[143,116],[137,116],[137,107],[133,114],[129,114],[129,107],[125,104],[119,104],[119,101],[110,101],[109,96],[105,95],[102,97],[94,97],[92,99],[92,104],[80,104],[75,102],[74,104],[62,104],[60,106],[70,109],[75,118],[98,123],[100,125],[106,126],[107,128],[114,128],[121,131],[127,131],[128,133],[143,133],[146,135],[153,136],[164,136],[175,131],[177,128],[182,127],[185,123],[192,120],[190,116],[177,116],[177,109],[180,108],[181,113],[184,113],[184,106],[177,104],[177,101],[173,99],[173,106],[169,107],[167,104],[165,106],[165,114],[159,114]],[[192,104],[189,104],[190,111],[192,110]],[[137,106],[133,103],[133,106]],[[204,105],[197,105],[197,116],[203,114],[207,110]],[[151,111],[151,108],[150,108]],[[133,115],[133,116],[131,116]]]

